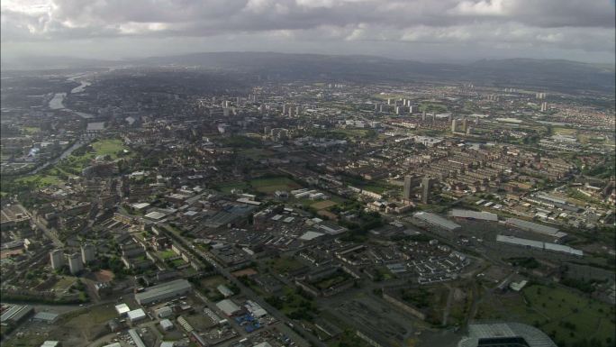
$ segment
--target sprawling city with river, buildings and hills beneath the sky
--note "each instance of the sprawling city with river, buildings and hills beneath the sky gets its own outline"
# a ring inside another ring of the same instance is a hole
[[[613,55],[351,53],[3,61],[2,346],[616,346]]]

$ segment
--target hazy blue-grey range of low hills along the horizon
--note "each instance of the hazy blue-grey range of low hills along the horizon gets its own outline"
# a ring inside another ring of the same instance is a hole
[[[373,56],[212,52],[146,59],[96,60],[27,57],[2,69],[198,67],[258,74],[264,78],[354,82],[468,82],[494,87],[545,88],[564,92],[613,92],[614,67],[557,59],[484,59],[470,64],[425,63]]]

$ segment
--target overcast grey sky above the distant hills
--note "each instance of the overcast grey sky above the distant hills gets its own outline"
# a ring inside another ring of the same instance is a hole
[[[2,56],[196,51],[614,63],[614,0],[2,0]]]

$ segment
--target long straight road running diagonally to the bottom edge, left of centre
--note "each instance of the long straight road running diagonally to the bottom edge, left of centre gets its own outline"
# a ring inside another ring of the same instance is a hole
[[[166,230],[166,233],[172,233],[171,231],[168,230],[168,228],[165,228],[165,230]],[[185,248],[191,249],[192,251],[197,253],[199,256],[201,256],[204,260],[207,260],[207,262],[209,262],[213,266],[214,269],[218,270],[218,272],[225,279],[229,280],[232,284],[240,288],[240,291],[244,294],[244,296],[249,297],[250,300],[256,302],[259,306],[263,307],[270,315],[272,315],[278,321],[283,322],[289,326],[293,326],[295,331],[299,332],[299,334],[304,339],[310,340],[310,342],[312,342],[313,345],[319,346],[319,347],[326,347],[326,344],[323,343],[321,340],[319,340],[312,333],[307,332],[299,324],[294,323],[291,319],[287,318],[280,311],[278,311],[274,306],[267,304],[267,302],[262,297],[260,297],[257,293],[255,293],[251,288],[248,288],[243,283],[241,283],[239,279],[236,279],[235,276],[233,276],[228,269],[223,268],[222,265],[219,264],[218,261],[214,260],[209,254],[199,249],[193,248],[192,245],[189,242],[186,242],[184,237],[182,237],[181,235],[174,233],[174,236],[176,236],[177,239],[183,243],[183,246]]]

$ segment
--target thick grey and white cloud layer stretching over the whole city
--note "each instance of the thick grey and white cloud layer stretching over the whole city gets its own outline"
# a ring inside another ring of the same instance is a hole
[[[21,0],[3,44],[250,36],[515,48],[614,49],[611,0]],[[247,43],[247,42],[243,42]],[[238,41],[238,44],[242,44]],[[565,57],[566,58],[566,57]]]

